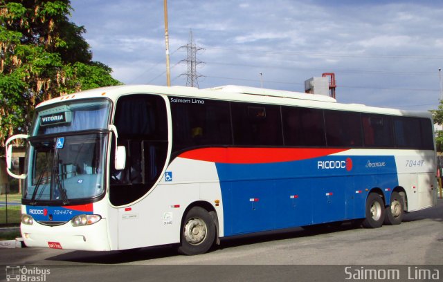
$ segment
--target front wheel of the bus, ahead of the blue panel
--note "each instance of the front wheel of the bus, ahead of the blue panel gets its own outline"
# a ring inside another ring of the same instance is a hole
[[[179,253],[188,256],[204,254],[215,241],[215,224],[206,209],[192,207],[183,220]]]

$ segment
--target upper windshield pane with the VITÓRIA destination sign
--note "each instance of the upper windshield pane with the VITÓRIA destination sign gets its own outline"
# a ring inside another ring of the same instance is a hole
[[[37,111],[33,136],[91,129],[107,129],[108,100],[76,101]]]

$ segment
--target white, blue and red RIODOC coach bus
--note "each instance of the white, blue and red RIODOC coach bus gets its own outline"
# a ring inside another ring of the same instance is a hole
[[[426,112],[246,86],[112,86],[36,107],[21,234],[28,247],[129,250],[357,220],[436,203]],[[15,142],[12,142],[15,140]],[[17,174],[16,174],[17,173]],[[21,173],[21,174],[20,174]]]

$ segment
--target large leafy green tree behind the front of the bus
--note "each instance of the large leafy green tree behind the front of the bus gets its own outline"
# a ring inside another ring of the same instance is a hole
[[[44,100],[120,84],[92,61],[83,26],[69,21],[69,0],[0,0],[0,147],[28,132]]]

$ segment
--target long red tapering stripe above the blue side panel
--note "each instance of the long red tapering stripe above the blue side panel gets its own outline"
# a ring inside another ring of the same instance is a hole
[[[307,160],[340,153],[349,149],[306,148],[202,148],[186,151],[180,158],[227,164],[262,164]]]

